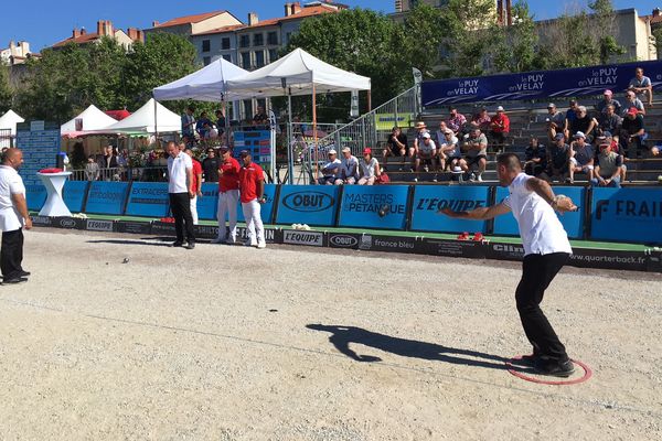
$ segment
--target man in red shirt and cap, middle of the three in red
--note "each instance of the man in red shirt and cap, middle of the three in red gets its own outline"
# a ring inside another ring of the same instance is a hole
[[[218,166],[218,236],[212,244],[234,245],[237,240],[237,204],[239,202],[239,162],[234,159],[227,146],[221,147]],[[225,232],[225,216],[229,218],[229,237]]]

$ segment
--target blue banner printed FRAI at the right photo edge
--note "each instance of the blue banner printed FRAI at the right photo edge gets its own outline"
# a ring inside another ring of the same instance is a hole
[[[594,189],[590,238],[662,244],[662,189]]]

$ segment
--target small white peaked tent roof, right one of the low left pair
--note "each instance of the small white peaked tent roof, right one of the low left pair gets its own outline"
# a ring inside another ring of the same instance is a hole
[[[182,120],[179,115],[168,110],[162,104],[157,103],[153,98],[136,110],[131,116],[117,121],[103,131],[110,132],[146,132],[154,133],[154,106],[157,110],[157,129],[159,132],[180,131]]]

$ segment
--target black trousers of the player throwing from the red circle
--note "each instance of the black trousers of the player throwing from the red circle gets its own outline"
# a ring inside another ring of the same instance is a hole
[[[536,355],[565,362],[565,346],[540,308],[545,289],[568,260],[567,252],[528,255],[522,265],[522,280],[515,292],[517,311],[526,337]]]

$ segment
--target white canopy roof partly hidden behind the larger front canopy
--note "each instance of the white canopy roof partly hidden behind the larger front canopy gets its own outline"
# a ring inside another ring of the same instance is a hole
[[[226,82],[246,74],[248,74],[248,71],[218,58],[183,78],[154,88],[153,95],[158,100],[194,99],[196,101],[217,103],[222,100],[221,96],[223,94],[226,95],[226,100],[241,99],[242,97],[227,94]]]

